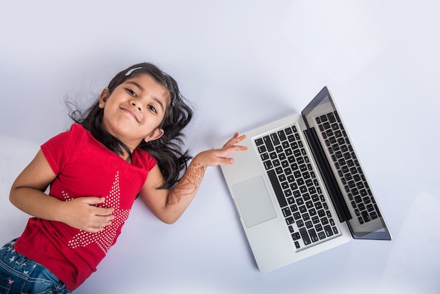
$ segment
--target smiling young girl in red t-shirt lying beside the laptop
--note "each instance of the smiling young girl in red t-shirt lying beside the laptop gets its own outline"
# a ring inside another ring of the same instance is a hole
[[[71,117],[70,130],[44,143],[13,183],[11,203],[34,217],[0,250],[0,293],[70,293],[115,244],[137,196],[172,224],[207,166],[231,164],[228,155],[245,150],[235,134],[186,168],[179,143],[192,110],[150,63],[119,72],[86,115]]]

